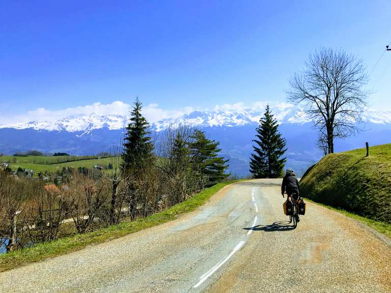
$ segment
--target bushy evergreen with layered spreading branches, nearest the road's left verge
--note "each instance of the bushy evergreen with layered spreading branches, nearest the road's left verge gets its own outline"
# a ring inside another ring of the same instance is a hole
[[[206,185],[213,185],[226,178],[229,175],[225,173],[229,160],[218,157],[221,149],[217,147],[220,143],[207,139],[201,130],[195,130],[191,138],[193,139],[190,143],[191,162],[202,179],[207,181]]]

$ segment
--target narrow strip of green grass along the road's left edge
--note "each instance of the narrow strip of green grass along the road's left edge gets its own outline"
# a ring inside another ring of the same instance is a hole
[[[233,182],[218,183],[198,194],[195,194],[191,198],[176,204],[170,209],[153,214],[146,218],[135,221],[124,221],[118,225],[109,226],[93,232],[61,238],[52,242],[38,244],[31,248],[2,254],[0,255],[0,272],[8,271],[49,257],[80,250],[90,244],[113,240],[142,229],[175,220],[178,215],[193,211],[200,207],[213,194],[231,183]]]

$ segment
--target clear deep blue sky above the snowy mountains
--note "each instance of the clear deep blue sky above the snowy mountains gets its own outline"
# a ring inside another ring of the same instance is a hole
[[[361,57],[372,106],[391,109],[391,51],[372,71],[391,42],[388,0],[0,4],[0,123],[136,96],[164,115],[283,102],[321,46]]]

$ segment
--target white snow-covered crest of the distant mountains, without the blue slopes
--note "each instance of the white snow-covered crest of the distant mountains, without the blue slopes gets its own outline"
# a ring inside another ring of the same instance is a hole
[[[303,124],[311,122],[300,107],[274,107],[272,113],[280,124]],[[252,109],[239,111],[193,111],[177,118],[167,118],[152,123],[153,130],[161,131],[170,126],[189,125],[192,127],[239,127],[245,125],[256,125],[263,112]],[[391,110],[367,109],[363,115],[364,122],[375,124],[391,123]],[[128,116],[118,114],[89,114],[82,116],[70,116],[58,121],[31,121],[28,123],[16,123],[9,125],[0,125],[0,128],[14,129],[34,129],[48,131],[67,131],[67,132],[89,132],[95,129],[107,128],[108,130],[118,130],[126,127],[129,121]]]

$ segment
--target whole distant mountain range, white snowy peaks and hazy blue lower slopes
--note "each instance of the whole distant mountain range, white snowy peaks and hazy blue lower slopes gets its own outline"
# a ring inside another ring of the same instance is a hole
[[[287,165],[302,173],[316,163],[322,152],[317,147],[319,133],[311,119],[298,106],[271,107],[280,123],[279,130],[286,138]],[[230,171],[248,174],[248,160],[253,152],[256,127],[264,111],[254,109],[193,111],[175,118],[151,124],[152,131],[188,125],[200,128],[220,142],[221,155],[230,159]],[[54,122],[32,121],[0,126],[0,153],[39,150],[45,153],[65,152],[71,155],[92,155],[109,152],[124,137],[123,129],[129,118],[109,114],[71,116]],[[365,131],[350,138],[335,141],[337,152],[391,142],[391,111],[367,109],[362,114]],[[362,126],[362,125],[361,125]]]

